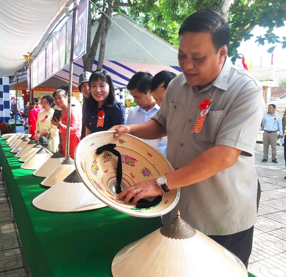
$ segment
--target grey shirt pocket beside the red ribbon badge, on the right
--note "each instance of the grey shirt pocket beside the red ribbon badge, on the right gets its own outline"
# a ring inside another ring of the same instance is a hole
[[[221,123],[226,111],[209,111],[206,115],[202,129],[200,130],[200,142],[203,144],[215,144]]]

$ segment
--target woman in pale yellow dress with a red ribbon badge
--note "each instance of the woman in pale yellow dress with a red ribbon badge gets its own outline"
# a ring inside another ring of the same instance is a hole
[[[46,148],[52,152],[56,152],[59,144],[59,130],[51,123],[55,103],[51,95],[45,95],[41,102],[43,110],[38,113],[36,134],[33,139],[38,140],[41,136],[45,136],[48,140]]]

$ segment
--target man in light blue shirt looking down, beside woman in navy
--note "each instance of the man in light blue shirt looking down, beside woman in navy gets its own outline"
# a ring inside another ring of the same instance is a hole
[[[134,97],[134,102],[138,106],[129,111],[126,125],[149,121],[150,118],[160,109],[152,96],[152,92],[150,91],[152,79],[153,76],[150,73],[139,71],[133,75],[128,82],[127,89]],[[157,148],[166,157],[167,146],[162,141],[162,138],[145,141]]]

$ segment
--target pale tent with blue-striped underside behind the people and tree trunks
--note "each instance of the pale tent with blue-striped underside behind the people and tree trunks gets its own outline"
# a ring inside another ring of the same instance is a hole
[[[175,74],[181,72],[178,67],[178,50],[176,48],[122,13],[114,15],[113,21],[106,38],[103,69],[111,75],[115,88],[126,87],[130,78],[138,71],[148,71],[152,75],[161,70],[168,70]],[[98,22],[92,25],[92,38],[96,33],[97,27]],[[93,63],[93,71],[96,70],[98,53],[99,48]],[[83,62],[82,58],[79,58],[74,62],[73,68],[72,83],[75,87],[78,86],[78,78],[82,72]],[[65,66],[54,77],[68,82],[69,66]],[[23,74],[19,78],[19,82],[26,79],[27,75]],[[11,83],[11,85],[14,84],[15,81]],[[49,85],[49,80],[45,82],[45,86],[54,87],[52,83]]]

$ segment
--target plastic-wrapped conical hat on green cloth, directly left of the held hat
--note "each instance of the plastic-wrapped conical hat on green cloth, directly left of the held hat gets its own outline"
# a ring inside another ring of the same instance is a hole
[[[40,210],[58,213],[88,211],[107,206],[86,188],[76,170],[37,196],[32,203]]]

